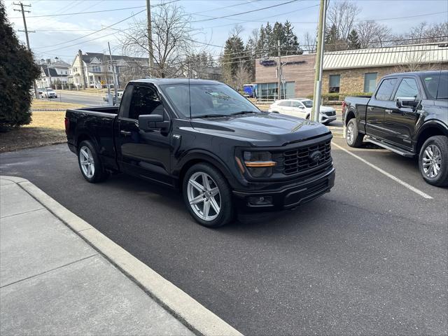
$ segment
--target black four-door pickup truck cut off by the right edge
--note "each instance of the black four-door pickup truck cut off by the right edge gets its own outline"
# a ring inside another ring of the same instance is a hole
[[[418,157],[426,182],[448,186],[448,71],[385,76],[372,97],[346,97],[342,118],[349,146]]]

